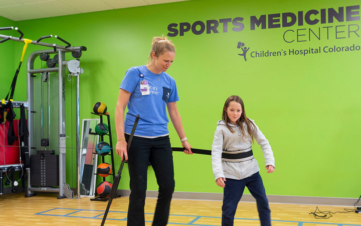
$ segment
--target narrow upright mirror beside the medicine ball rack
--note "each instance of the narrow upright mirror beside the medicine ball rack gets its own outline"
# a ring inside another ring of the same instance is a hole
[[[94,135],[95,127],[100,119],[84,119],[80,143],[79,164],[79,194],[94,197],[98,155],[95,147],[99,142],[99,135]]]

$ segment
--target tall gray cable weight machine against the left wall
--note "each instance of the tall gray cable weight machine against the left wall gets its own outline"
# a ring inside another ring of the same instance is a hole
[[[3,102],[12,102],[13,107],[24,105],[27,109],[27,126],[29,129],[29,145],[27,154],[31,157],[37,152],[39,147],[49,147],[59,150],[58,152],[58,177],[59,187],[48,186],[46,183],[41,186],[32,186],[31,168],[27,168],[28,186],[26,197],[36,195],[35,192],[59,192],[58,198],[73,198],[73,191],[66,183],[66,133],[65,133],[65,83],[69,76],[76,76],[76,147],[77,147],[77,169],[79,171],[79,149],[80,149],[80,123],[79,123],[79,75],[83,69],[79,67],[79,58],[82,51],[86,51],[85,46],[72,47],[71,44],[58,36],[56,39],[62,41],[66,46],[40,42],[43,39],[52,38],[52,35],[43,36],[37,41],[23,39],[23,33],[14,27],[0,28],[2,30],[16,30],[21,35],[19,38],[0,35],[0,43],[8,40],[24,42],[27,44],[50,47],[51,49],[35,51],[30,54],[27,61],[27,100],[13,101],[13,99],[3,100]],[[26,47],[24,47],[26,49]],[[24,57],[23,50],[23,57]],[[66,53],[71,52],[76,60],[65,60]],[[50,58],[51,54],[55,54]],[[35,68],[34,61],[37,57],[47,61],[48,68]],[[45,57],[47,56],[47,57]],[[23,58],[22,57],[22,58]],[[21,64],[20,64],[21,65]],[[18,71],[20,69],[20,65]],[[66,78],[66,69],[69,71]],[[70,78],[71,78],[70,77]],[[14,82],[13,82],[14,83]],[[44,85],[47,83],[47,85]],[[14,88],[13,87],[13,92]],[[39,93],[40,90],[40,93]],[[45,97],[46,96],[46,97]],[[45,148],[46,149],[46,148]],[[43,175],[46,177],[46,175]],[[79,177],[79,172],[77,172]],[[77,184],[79,194],[79,180]],[[78,198],[80,195],[78,195]]]

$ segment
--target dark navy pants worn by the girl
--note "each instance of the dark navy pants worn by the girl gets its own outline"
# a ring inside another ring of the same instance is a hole
[[[245,186],[256,199],[258,214],[262,226],[271,225],[271,210],[268,205],[266,191],[259,172],[242,180],[226,178],[223,189],[222,226],[233,226],[238,202],[241,200]]]

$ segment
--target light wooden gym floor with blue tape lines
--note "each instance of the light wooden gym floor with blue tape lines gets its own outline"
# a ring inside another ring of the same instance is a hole
[[[100,225],[107,202],[57,199],[57,194],[23,193],[0,195],[0,225]],[[105,225],[126,225],[128,197],[113,200]],[[147,198],[145,225],[151,225],[156,199]],[[168,225],[221,225],[221,201],[173,199]],[[361,226],[361,213],[335,213],[328,219],[315,219],[315,205],[270,203],[272,225],[276,226]],[[349,206],[318,206],[321,211],[344,211]],[[352,207],[353,208],[353,207]],[[256,204],[240,202],[235,225],[260,225]]]

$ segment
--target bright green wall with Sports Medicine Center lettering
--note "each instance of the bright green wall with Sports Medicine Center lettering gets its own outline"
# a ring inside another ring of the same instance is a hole
[[[234,27],[240,29],[240,25],[229,23],[227,32],[223,32],[224,26],[219,23],[219,33],[205,31],[195,35],[189,31],[183,36],[169,37],[177,49],[175,61],[167,72],[177,82],[180,97],[177,106],[190,144],[194,148],[211,149],[224,101],[229,95],[237,94],[245,102],[247,116],[255,120],[274,152],[276,170],[266,174],[261,149],[257,144],[253,146],[267,194],[355,198],[361,186],[357,179],[361,154],[356,146],[361,126],[361,101],[357,91],[361,80],[361,52],[330,53],[323,48],[361,46],[360,10],[352,11],[355,13],[352,19],[358,17],[354,21],[346,21],[344,16],[343,22],[334,19],[333,23],[326,20],[323,24],[298,25],[297,21],[290,27],[269,28],[264,24],[266,29],[250,28],[252,16],[257,19],[261,15],[282,13],[297,16],[299,11],[305,15],[309,10],[326,9],[327,12],[328,8],[338,12],[338,7],[346,14],[348,6],[359,8],[359,2],[194,0],[14,24],[29,39],[53,34],[69,40],[73,46],[86,46],[88,51],[81,58],[85,72],[80,76],[80,118],[95,118],[90,114],[92,106],[102,101],[107,104],[113,122],[124,73],[131,66],[146,63],[153,36],[166,36],[171,23],[178,24],[179,29],[179,23],[206,24],[208,20],[243,18],[242,31],[232,31]],[[281,24],[277,16],[274,18],[273,24]],[[312,15],[310,20],[317,18],[320,16]],[[200,26],[196,29],[200,30]],[[348,33],[348,29],[355,32]],[[320,31],[319,39],[311,31],[317,36]],[[238,42],[249,48],[247,61],[238,55],[242,53],[237,48]],[[15,53],[20,53],[21,48],[22,45],[16,45]],[[290,50],[311,51],[311,48],[321,51],[290,54]],[[38,47],[29,48],[28,54],[31,49],[38,50]],[[279,51],[281,55],[251,57],[255,51],[267,50]],[[16,64],[19,56],[16,54],[14,58],[11,62]],[[25,73],[24,68],[22,71]],[[25,84],[19,83],[19,86]],[[0,88],[9,85],[1,83]],[[111,127],[115,143],[114,123]],[[181,144],[171,124],[169,132],[172,146],[179,147]],[[73,173],[68,173],[71,178],[68,183],[75,187],[75,153],[72,151],[69,155],[67,167],[72,168]],[[214,182],[210,156],[173,153],[173,157],[175,191],[223,191]],[[119,165],[116,158],[115,168]],[[129,189],[126,172],[123,171],[119,189]],[[157,190],[151,168],[148,190]]]

